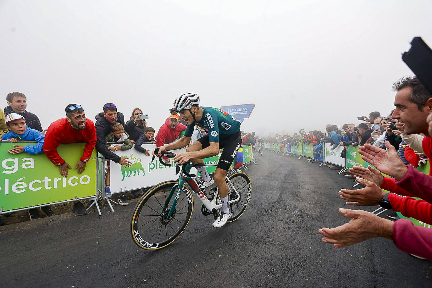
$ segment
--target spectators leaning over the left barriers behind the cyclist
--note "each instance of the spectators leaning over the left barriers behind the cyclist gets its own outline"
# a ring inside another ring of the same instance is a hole
[[[132,163],[127,157],[120,157],[115,154],[118,150],[128,150],[134,148],[137,152],[150,156],[149,150],[142,147],[143,143],[153,143],[158,146],[164,143],[173,142],[183,136],[186,126],[181,123],[178,115],[170,115],[165,123],[159,128],[155,136],[155,129],[147,126],[146,119],[140,108],[135,108],[125,123],[124,114],[117,111],[114,103],[106,103],[102,107],[102,112],[95,116],[95,122],[86,117],[84,107],[80,104],[68,104],[65,108],[64,118],[58,119],[43,130],[37,115],[27,111],[27,97],[19,92],[9,93],[6,96],[8,106],[4,110],[0,109],[0,136],[2,141],[10,141],[20,144],[18,141],[35,141],[36,145],[13,145],[8,153],[44,153],[46,157],[56,165],[62,177],[68,177],[69,170],[76,169],[78,174],[82,174],[86,169],[86,163],[91,158],[93,150],[101,153],[108,160],[106,163],[105,194],[110,196],[109,168],[111,161],[130,166]],[[191,144],[198,138],[206,134],[203,129],[195,127]],[[86,142],[83,154],[75,166],[67,163],[57,152],[60,144],[76,142]],[[25,144],[25,143],[23,143]],[[168,159],[167,159],[168,161]],[[131,191],[131,196],[137,197],[142,193],[141,190]],[[118,196],[120,205],[128,205],[127,196],[121,193]],[[92,206],[89,203],[87,209]],[[81,201],[74,201],[72,212],[75,215],[86,215],[87,209]],[[31,220],[41,218],[39,209],[29,209]],[[55,215],[50,206],[41,207],[41,211],[46,216]],[[0,218],[0,225],[4,225],[3,218]]]

